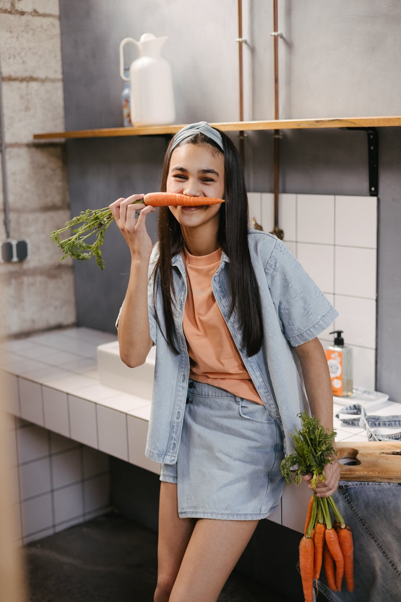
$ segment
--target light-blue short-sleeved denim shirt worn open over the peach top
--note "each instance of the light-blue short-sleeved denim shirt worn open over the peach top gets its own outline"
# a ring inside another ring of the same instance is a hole
[[[290,453],[293,449],[290,433],[301,427],[297,414],[308,410],[301,367],[293,347],[319,335],[338,314],[278,238],[250,230],[248,244],[262,302],[264,338],[256,355],[246,356],[237,315],[235,312],[229,315],[230,260],[224,252],[212,278],[213,294],[262,402],[283,430],[284,452]],[[179,349],[176,355],[162,334],[165,323],[160,287],[156,288],[156,310],[162,332],[155,318],[153,269],[158,253],[156,244],[150,258],[148,284],[150,337],[156,344],[156,364],[146,455],[156,462],[175,464],[189,379],[189,356],[182,326],[187,284],[179,253],[173,257],[173,317]]]

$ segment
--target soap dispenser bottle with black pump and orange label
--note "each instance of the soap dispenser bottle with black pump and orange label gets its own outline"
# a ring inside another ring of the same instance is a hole
[[[334,343],[326,349],[326,359],[331,376],[331,386],[335,397],[352,395],[352,349],[344,345],[343,330],[334,330]]]

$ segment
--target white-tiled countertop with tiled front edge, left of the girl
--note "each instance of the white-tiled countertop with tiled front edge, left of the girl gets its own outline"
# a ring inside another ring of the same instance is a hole
[[[150,399],[102,385],[97,346],[117,336],[86,327],[43,332],[2,343],[5,408],[155,473],[145,457]]]

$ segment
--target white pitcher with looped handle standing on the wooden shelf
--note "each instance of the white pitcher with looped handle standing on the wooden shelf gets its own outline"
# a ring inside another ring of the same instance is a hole
[[[156,38],[143,34],[139,42],[124,38],[120,43],[120,75],[131,82],[131,121],[134,126],[167,125],[174,123],[173,78],[168,61],[161,57],[161,49],[168,36]],[[138,58],[131,63],[129,78],[124,75],[124,46],[135,44]]]

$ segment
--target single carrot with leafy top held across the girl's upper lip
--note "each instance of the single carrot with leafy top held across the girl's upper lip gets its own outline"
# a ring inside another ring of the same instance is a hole
[[[137,200],[135,204],[152,205],[153,207],[162,206],[200,206],[200,205],[216,205],[223,203],[223,199],[215,199],[214,197],[186,196],[186,194],[176,194],[167,192],[152,192],[145,194],[143,199]],[[92,255],[96,260],[96,264],[103,270],[105,262],[102,258],[100,247],[105,238],[105,232],[109,225],[114,221],[114,217],[108,207],[103,209],[87,209],[81,211],[79,216],[73,217],[72,220],[66,223],[64,228],[51,232],[52,243],[57,243],[58,247],[63,250],[63,259],[72,257],[73,259],[89,259]],[[62,234],[72,228],[72,235],[64,240],[61,240]],[[94,240],[93,240],[94,236]],[[92,237],[92,238],[91,238]]]

